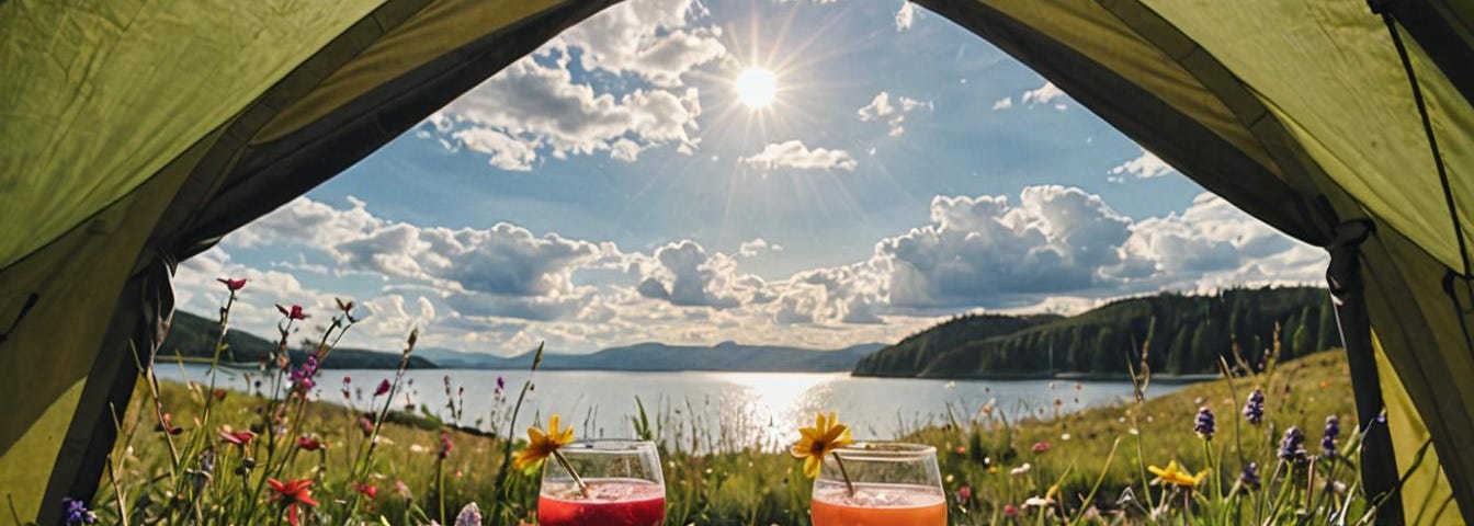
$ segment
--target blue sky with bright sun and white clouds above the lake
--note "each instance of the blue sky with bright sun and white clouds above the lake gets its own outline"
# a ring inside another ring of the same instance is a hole
[[[1319,283],[1027,66],[904,1],[631,0],[181,264],[345,346],[895,342],[958,312]]]

